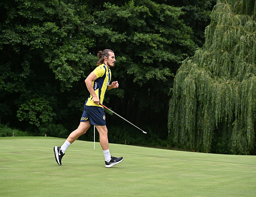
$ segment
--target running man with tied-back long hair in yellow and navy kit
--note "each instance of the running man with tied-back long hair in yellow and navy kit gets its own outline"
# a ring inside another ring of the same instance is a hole
[[[85,84],[90,92],[90,96],[85,101],[84,113],[81,117],[80,124],[76,130],[70,133],[62,146],[55,146],[53,148],[55,160],[59,165],[61,165],[61,159],[68,146],[78,137],[85,134],[91,124],[95,125],[100,134],[100,145],[105,156],[105,166],[110,168],[123,161],[123,157],[113,157],[109,153],[105,113],[103,107],[99,105],[100,103],[103,104],[107,90],[118,88],[117,81],[109,85],[111,80],[110,68],[114,67],[116,61],[115,54],[113,51],[105,49],[104,51],[99,51],[97,57],[99,58],[97,62],[98,67],[85,79]]]

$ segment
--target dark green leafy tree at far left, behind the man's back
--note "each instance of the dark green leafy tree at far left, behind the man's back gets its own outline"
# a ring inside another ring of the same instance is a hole
[[[92,40],[80,1],[2,1],[1,116],[40,126],[57,116],[59,91],[90,70]],[[87,47],[85,47],[87,46]],[[10,121],[11,121],[10,120]]]

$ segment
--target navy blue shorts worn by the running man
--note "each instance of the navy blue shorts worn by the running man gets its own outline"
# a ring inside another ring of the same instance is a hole
[[[84,113],[81,117],[80,122],[90,121],[92,125],[106,125],[105,112],[102,107],[97,106],[86,106],[84,104]]]

